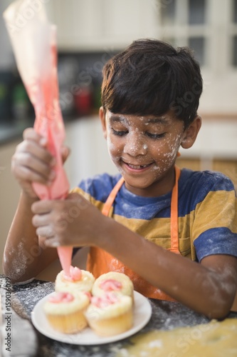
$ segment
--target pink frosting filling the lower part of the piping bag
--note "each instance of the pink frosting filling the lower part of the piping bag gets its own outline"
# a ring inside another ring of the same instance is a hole
[[[57,67],[56,67],[56,44],[51,45],[51,77],[43,82],[43,98],[45,100],[45,108],[43,111],[46,113],[36,114],[36,121],[34,123],[34,129],[46,136],[48,139],[48,150],[56,157],[56,179],[51,186],[43,186],[39,183],[33,183],[33,188],[37,195],[41,198],[60,198],[63,199],[68,195],[68,178],[65,175],[63,169],[63,163],[60,154],[60,147],[63,144],[65,138],[65,128],[63,125],[63,117],[61,115],[60,106],[58,102],[58,79],[57,79]],[[46,115],[45,115],[46,114]],[[70,264],[72,259],[73,248],[68,246],[59,246],[58,257],[60,259],[63,271],[67,276],[70,276]]]

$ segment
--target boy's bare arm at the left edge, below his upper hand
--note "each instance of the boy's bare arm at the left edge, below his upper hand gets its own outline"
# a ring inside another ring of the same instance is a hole
[[[37,198],[21,193],[4,249],[4,274],[12,283],[28,281],[57,258],[56,249],[39,241],[32,225],[31,205]]]

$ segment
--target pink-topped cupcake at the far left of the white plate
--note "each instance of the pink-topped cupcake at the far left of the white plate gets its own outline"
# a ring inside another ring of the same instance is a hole
[[[88,326],[85,310],[90,298],[85,293],[53,293],[43,305],[51,327],[61,333],[77,333]]]

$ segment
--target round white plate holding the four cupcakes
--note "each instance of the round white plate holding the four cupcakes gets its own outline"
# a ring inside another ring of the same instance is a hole
[[[39,332],[43,333],[43,335],[49,338],[53,338],[53,340],[60,342],[73,343],[75,345],[100,345],[102,343],[119,341],[123,338],[132,336],[137,331],[141,330],[152,316],[152,306],[150,305],[148,299],[135,291],[134,323],[130,330],[110,337],[99,337],[89,327],[85,328],[80,333],[60,333],[53,330],[53,328],[48,323],[46,314],[43,312],[43,303],[48,300],[48,296],[51,294],[45,296],[40,301],[38,301],[38,303],[36,303],[36,306],[31,312],[31,320],[33,326],[35,326]]]

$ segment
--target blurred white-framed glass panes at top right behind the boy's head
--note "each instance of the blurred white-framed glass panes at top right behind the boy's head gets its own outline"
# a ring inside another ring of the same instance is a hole
[[[189,46],[203,69],[237,70],[237,0],[152,1],[159,3],[159,39]]]

